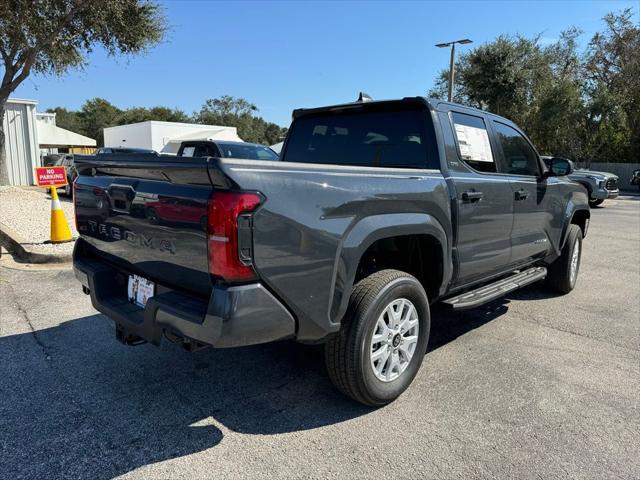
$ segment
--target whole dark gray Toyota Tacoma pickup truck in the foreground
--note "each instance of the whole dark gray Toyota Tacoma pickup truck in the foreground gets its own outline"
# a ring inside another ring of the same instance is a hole
[[[120,341],[323,343],[336,387],[373,406],[418,372],[433,302],[570,292],[590,217],[571,165],[511,121],[421,97],[296,110],[280,161],[76,166],[75,275]]]

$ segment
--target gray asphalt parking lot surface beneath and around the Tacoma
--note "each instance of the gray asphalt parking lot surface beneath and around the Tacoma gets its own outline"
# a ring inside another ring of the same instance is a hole
[[[639,478],[640,197],[592,211],[576,290],[451,314],[393,404],[317,347],[126,347],[70,269],[0,262],[0,478]]]

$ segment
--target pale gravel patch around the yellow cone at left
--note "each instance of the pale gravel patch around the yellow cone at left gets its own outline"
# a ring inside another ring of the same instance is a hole
[[[73,238],[78,237],[73,221],[71,199],[58,194]],[[42,188],[0,187],[0,223],[14,230],[24,239],[26,250],[37,253],[67,255],[75,242],[45,243],[51,228],[51,196]]]

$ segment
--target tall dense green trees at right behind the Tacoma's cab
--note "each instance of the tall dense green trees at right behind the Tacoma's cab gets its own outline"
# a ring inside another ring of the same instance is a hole
[[[552,45],[500,36],[456,62],[454,101],[505,116],[542,153],[575,160],[640,158],[640,28],[624,10],[578,51],[571,28]],[[448,71],[430,96],[446,98]]]

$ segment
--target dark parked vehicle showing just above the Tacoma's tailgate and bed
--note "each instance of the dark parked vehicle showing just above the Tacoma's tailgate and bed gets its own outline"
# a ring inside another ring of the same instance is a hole
[[[228,140],[198,140],[182,142],[179,157],[221,157],[247,160],[278,160],[278,154],[269,147],[257,143]]]

